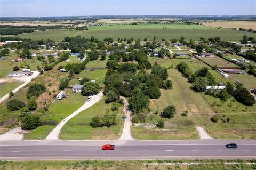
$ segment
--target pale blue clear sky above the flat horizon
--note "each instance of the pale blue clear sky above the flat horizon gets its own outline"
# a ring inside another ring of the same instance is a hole
[[[0,0],[0,15],[256,15],[256,0]]]

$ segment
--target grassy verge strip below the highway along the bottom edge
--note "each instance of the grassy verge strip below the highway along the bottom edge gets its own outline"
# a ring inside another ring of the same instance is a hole
[[[225,163],[237,164],[225,164]],[[150,163],[158,163],[158,165],[150,165]],[[169,163],[166,165],[164,163]],[[170,165],[170,163],[173,163]],[[177,164],[178,163],[178,164]],[[186,163],[198,163],[189,165]],[[207,163],[207,164],[205,164]],[[43,161],[0,161],[1,169],[8,170],[41,170],[41,169],[147,169],[147,170],[163,170],[163,169],[207,169],[207,170],[222,170],[222,169],[255,169],[255,160],[43,160]],[[146,165],[149,164],[149,165]]]

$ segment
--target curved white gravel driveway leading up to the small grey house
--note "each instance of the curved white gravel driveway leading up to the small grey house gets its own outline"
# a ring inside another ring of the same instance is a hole
[[[85,102],[83,104],[83,106],[81,106],[79,109],[77,109],[75,112],[73,112],[72,114],[70,114],[68,117],[66,117],[65,119],[63,119],[53,130],[52,132],[50,132],[50,134],[46,137],[46,140],[58,140],[59,139],[59,134],[61,131],[61,128],[68,122],[68,120],[70,120],[71,118],[75,117],[77,114],[79,114],[79,112],[90,108],[91,106],[93,106],[93,104],[97,103],[100,101],[100,99],[102,98],[103,93],[100,92],[97,95],[92,96],[92,99],[89,102]]]

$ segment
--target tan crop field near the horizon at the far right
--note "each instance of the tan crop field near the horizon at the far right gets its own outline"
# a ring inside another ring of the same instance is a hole
[[[256,22],[251,21],[213,21],[211,23],[204,23],[206,26],[222,27],[222,28],[246,28],[256,30]]]

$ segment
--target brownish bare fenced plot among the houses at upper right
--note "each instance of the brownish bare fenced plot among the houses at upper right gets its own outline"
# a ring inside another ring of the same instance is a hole
[[[221,68],[221,67],[238,67],[233,62],[229,62],[229,61],[222,59],[218,56],[214,56],[212,58],[211,57],[201,57],[200,59],[203,60],[204,62],[207,62],[211,66],[217,65],[219,68]]]

